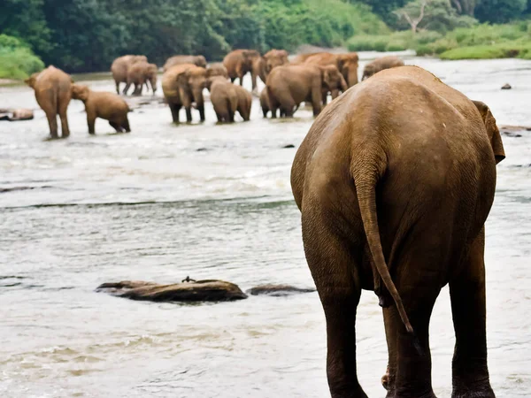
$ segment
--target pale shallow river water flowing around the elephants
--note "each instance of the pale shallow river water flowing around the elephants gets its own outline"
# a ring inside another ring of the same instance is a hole
[[[366,57],[362,57],[366,58]],[[531,62],[410,58],[473,99],[499,124],[531,126]],[[363,66],[364,63],[362,63]],[[499,88],[510,82],[513,89]],[[246,81],[250,83],[250,81]],[[113,89],[110,80],[89,80]],[[158,93],[160,95],[160,93]],[[327,396],[318,295],[176,305],[129,302],[105,281],[227,279],[312,287],[289,187],[295,149],[312,125],[263,119],[173,126],[163,104],[130,114],[132,134],[96,122],[89,136],[73,101],[71,137],[46,142],[42,111],[0,122],[0,396]],[[29,88],[0,88],[0,108],[37,108]],[[194,113],[194,119],[198,115]],[[240,119],[241,120],[241,119]],[[498,397],[531,396],[531,133],[504,136],[487,226],[489,367]],[[197,151],[197,149],[206,149]],[[358,309],[358,372],[383,396],[381,310]],[[448,289],[431,324],[435,393],[450,396]]]

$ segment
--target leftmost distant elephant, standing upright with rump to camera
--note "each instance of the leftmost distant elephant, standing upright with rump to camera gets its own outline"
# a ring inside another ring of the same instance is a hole
[[[73,80],[70,75],[50,65],[42,72],[32,74],[25,82],[35,90],[35,99],[48,119],[51,138],[58,138],[58,115],[61,119],[61,136],[66,138],[70,135],[66,117],[72,98]]]

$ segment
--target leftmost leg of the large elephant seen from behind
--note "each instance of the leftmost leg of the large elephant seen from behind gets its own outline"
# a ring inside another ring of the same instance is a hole
[[[304,200],[304,251],[327,319],[328,387],[332,398],[366,398],[356,364],[358,264],[351,242],[337,234],[327,210]]]

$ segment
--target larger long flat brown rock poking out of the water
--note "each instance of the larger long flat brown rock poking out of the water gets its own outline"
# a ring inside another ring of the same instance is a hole
[[[188,280],[190,282],[171,285],[122,280],[104,283],[96,287],[96,292],[150,302],[227,302],[247,298],[247,295],[234,283],[216,279]]]

